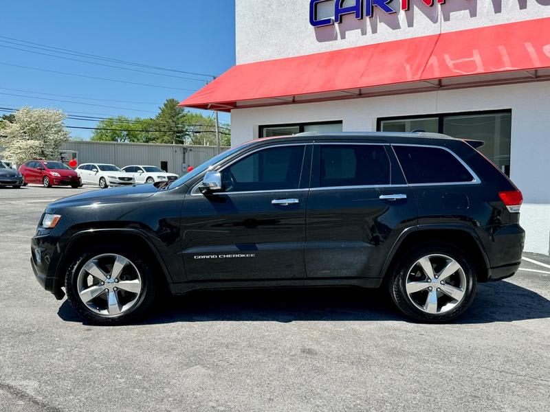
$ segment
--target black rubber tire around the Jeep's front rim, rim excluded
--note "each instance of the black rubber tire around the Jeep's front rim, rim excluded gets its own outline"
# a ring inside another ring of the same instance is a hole
[[[82,299],[80,299],[78,294],[78,274],[83,266],[92,258],[106,253],[122,255],[124,258],[130,260],[140,272],[142,281],[142,290],[135,304],[118,315],[98,314],[92,311]],[[67,299],[81,318],[88,323],[94,323],[96,325],[124,325],[142,319],[150,312],[153,306],[156,284],[155,276],[153,275],[153,271],[151,271],[151,265],[141,258],[140,253],[120,247],[116,244],[104,244],[101,247],[93,247],[89,248],[87,251],[82,251],[72,260],[72,263],[69,264],[69,268],[65,273],[65,292],[67,293]]]

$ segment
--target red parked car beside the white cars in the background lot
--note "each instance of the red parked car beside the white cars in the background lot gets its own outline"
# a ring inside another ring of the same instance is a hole
[[[25,185],[82,187],[80,176],[61,161],[31,160],[21,165],[19,173],[25,177]]]

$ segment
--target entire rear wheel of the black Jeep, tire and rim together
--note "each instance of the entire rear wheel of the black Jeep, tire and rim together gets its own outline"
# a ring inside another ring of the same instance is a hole
[[[453,244],[433,242],[406,251],[388,286],[408,317],[442,323],[456,319],[472,304],[476,283],[468,255]]]

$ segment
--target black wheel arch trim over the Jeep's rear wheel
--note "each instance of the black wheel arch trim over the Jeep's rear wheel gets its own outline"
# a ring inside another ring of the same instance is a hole
[[[478,270],[478,282],[487,282],[490,263],[485,248],[474,229],[463,225],[421,225],[407,229],[393,244],[382,266],[380,277],[387,279],[403,251],[414,244],[433,240],[454,244],[470,253]]]

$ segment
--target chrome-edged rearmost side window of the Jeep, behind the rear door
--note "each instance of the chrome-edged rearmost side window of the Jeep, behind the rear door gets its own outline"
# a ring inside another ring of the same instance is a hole
[[[471,182],[472,174],[447,150],[425,146],[393,146],[407,182],[458,183]]]

